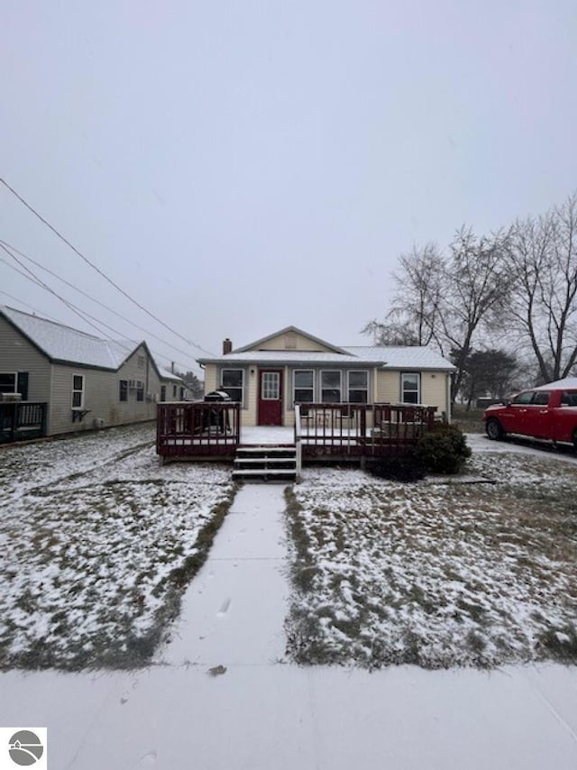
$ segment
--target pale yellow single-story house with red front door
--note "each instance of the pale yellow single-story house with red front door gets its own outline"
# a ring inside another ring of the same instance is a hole
[[[206,391],[241,402],[243,426],[293,426],[296,402],[424,404],[451,420],[454,367],[429,347],[338,347],[288,326],[198,363]]]

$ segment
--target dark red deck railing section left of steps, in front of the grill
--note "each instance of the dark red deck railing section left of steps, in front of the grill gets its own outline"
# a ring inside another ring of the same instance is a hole
[[[179,401],[157,407],[156,451],[163,457],[234,454],[240,436],[240,403]]]

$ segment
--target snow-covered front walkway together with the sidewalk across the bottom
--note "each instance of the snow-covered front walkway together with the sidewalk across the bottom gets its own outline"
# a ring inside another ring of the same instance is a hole
[[[1,674],[0,725],[48,726],[50,770],[577,767],[575,667],[283,664],[282,492],[238,494],[157,665]]]

